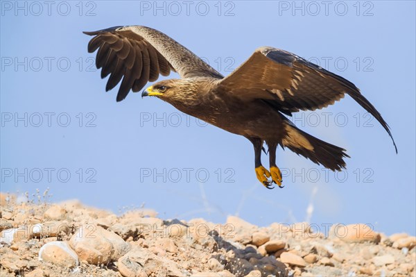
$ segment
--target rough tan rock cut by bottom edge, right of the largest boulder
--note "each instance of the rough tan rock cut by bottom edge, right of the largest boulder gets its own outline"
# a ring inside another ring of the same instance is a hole
[[[183,276],[177,269],[175,262],[148,251],[134,247],[117,261],[122,276],[150,276],[157,272],[157,276]]]

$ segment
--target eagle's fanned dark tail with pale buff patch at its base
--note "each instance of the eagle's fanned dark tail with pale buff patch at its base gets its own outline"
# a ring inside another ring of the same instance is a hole
[[[281,142],[282,146],[332,171],[345,169],[343,158],[349,158],[345,149],[319,140],[295,126],[286,125],[285,129],[286,136]]]

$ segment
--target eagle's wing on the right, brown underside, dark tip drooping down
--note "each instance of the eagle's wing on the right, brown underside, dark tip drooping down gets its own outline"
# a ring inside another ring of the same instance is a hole
[[[220,92],[243,100],[263,99],[286,115],[324,108],[349,94],[380,122],[393,140],[388,124],[353,83],[288,51],[260,47],[223,78],[219,87]],[[395,148],[397,152],[396,144]]]

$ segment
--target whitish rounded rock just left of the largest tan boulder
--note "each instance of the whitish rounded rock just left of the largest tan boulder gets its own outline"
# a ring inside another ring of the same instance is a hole
[[[60,267],[77,267],[78,255],[69,248],[67,242],[48,242],[40,248],[39,260],[51,262]]]

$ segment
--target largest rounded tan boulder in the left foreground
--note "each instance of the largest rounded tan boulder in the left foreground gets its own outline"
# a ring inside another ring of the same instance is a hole
[[[106,264],[127,253],[131,246],[119,235],[96,225],[83,225],[69,240],[81,262]]]

